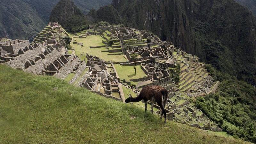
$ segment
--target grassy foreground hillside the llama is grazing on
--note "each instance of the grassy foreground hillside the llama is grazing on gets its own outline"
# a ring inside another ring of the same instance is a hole
[[[0,143],[245,143],[0,65]]]

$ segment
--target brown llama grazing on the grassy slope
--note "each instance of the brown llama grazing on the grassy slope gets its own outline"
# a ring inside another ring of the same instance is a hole
[[[130,94],[130,97],[125,100],[125,103],[129,102],[139,102],[141,100],[144,100],[145,102],[145,112],[147,111],[147,106],[148,106],[148,100],[151,102],[151,109],[152,109],[152,114],[153,114],[153,105],[154,102],[157,102],[160,108],[162,109],[162,114],[161,114],[161,119],[164,114],[164,123],[166,123],[166,111],[164,109],[166,100],[167,100],[167,95],[168,91],[164,89],[161,86],[156,86],[156,85],[151,85],[151,86],[146,86],[144,87],[139,96],[136,98],[133,98],[132,95]]]

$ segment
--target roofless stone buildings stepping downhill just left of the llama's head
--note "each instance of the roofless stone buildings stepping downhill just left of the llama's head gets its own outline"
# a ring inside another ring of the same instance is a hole
[[[86,53],[86,58],[89,71],[88,75],[82,78],[80,86],[97,92],[104,97],[124,101],[122,85],[119,83],[116,75],[113,75],[113,72],[108,72],[109,64],[88,53]],[[110,63],[110,65],[113,64]]]

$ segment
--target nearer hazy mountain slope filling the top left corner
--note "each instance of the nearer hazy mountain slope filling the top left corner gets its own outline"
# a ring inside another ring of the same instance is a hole
[[[28,14],[29,13],[29,14]],[[0,4],[0,37],[29,39],[44,28],[39,14],[22,0],[2,1]]]

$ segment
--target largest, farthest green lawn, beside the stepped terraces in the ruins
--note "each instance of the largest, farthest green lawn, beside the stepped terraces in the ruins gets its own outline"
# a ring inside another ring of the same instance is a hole
[[[103,48],[93,48],[90,49],[90,46],[103,46],[102,40],[104,40],[101,36],[87,36],[86,38],[74,38],[78,43],[83,43],[84,46],[79,46],[78,44],[71,43],[73,49],[82,60],[86,58],[86,53],[95,55],[103,60],[109,61],[117,61],[117,62],[125,62],[127,61],[123,54],[120,55],[108,55],[109,52],[101,52],[108,51],[105,47]],[[81,56],[82,54],[82,56]]]

